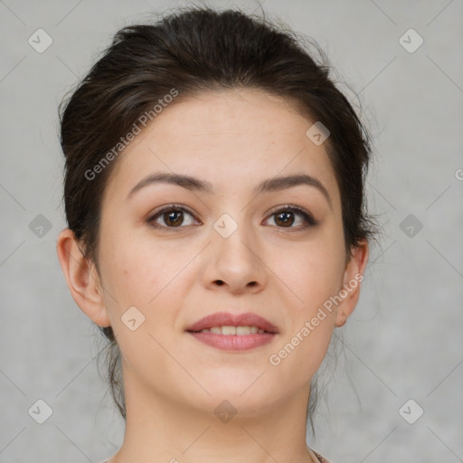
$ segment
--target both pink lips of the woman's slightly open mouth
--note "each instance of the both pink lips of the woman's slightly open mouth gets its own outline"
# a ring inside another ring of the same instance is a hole
[[[212,326],[257,326],[263,329],[265,333],[217,335],[211,332],[201,332],[202,329],[211,328]],[[268,344],[279,333],[279,330],[269,320],[257,314],[248,312],[233,315],[229,312],[217,312],[201,318],[194,325],[186,328],[186,332],[193,335],[195,339],[203,344],[227,351],[242,351]]]

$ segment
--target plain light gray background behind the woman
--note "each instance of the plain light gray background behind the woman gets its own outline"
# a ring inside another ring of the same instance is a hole
[[[463,461],[463,2],[261,3],[324,48],[375,137],[368,196],[383,236],[336,330],[344,354],[310,445],[333,463]],[[0,0],[2,463],[98,462],[122,442],[96,368],[104,342],[55,251],[65,227],[57,106],[119,27],[175,5],[188,4]],[[210,5],[260,13],[254,1]],[[28,43],[39,28],[53,41],[43,53]],[[415,52],[399,41],[410,28],[424,39]],[[40,214],[51,230],[37,228]],[[411,236],[409,214],[422,223]],[[43,424],[28,413],[39,399],[53,411]],[[399,412],[410,399],[424,410],[414,424]]]

